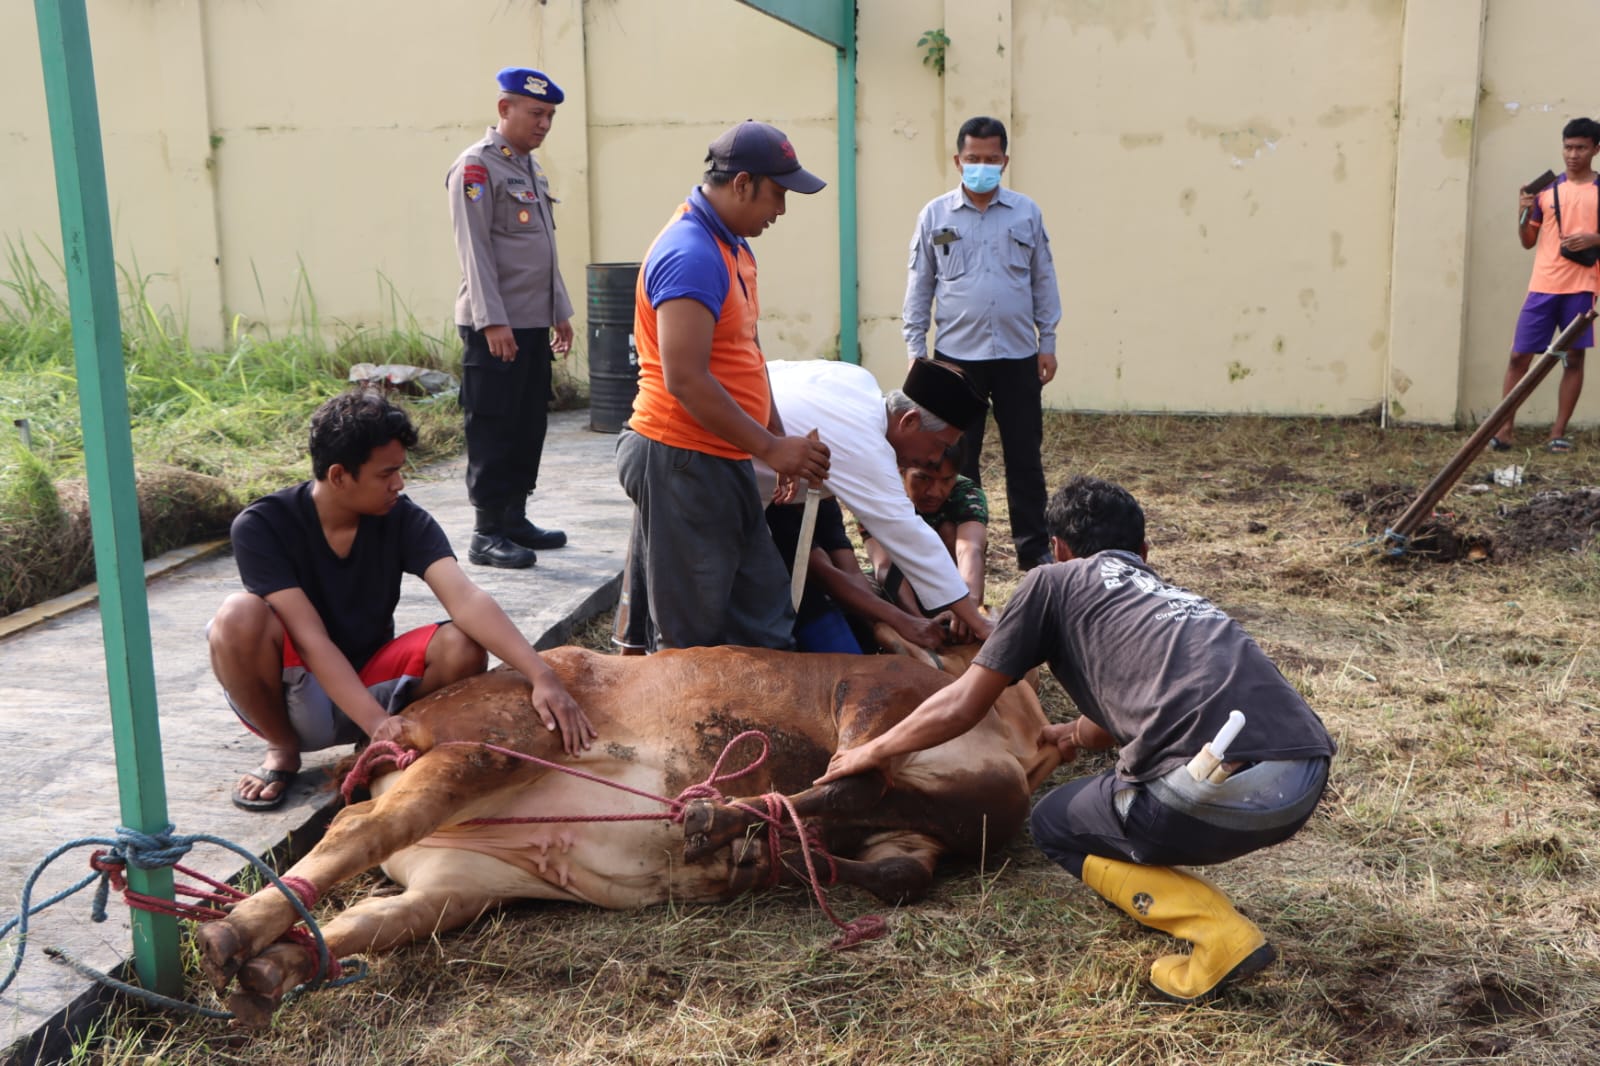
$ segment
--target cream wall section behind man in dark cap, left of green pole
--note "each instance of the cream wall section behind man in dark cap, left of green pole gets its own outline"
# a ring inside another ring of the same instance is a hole
[[[829,186],[789,195],[750,245],[762,346],[768,359],[837,355],[834,48],[731,0],[603,0],[587,5],[586,50],[594,261],[643,259],[706,171],[707,146],[746,118],[771,122]]]

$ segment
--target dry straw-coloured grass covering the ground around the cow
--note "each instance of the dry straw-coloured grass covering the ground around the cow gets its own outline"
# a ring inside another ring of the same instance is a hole
[[[528,906],[376,959],[270,1034],[128,1013],[80,1061],[1595,1061],[1600,565],[1592,547],[1517,555],[1526,528],[1499,509],[1600,483],[1600,440],[1517,453],[1528,485],[1451,496],[1451,525],[1494,538],[1494,555],[1438,563],[1360,546],[1365,519],[1339,498],[1419,487],[1459,434],[1131,416],[1048,429],[1051,482],[1128,485],[1157,568],[1242,618],[1339,741],[1314,821],[1214,871],[1282,952],[1254,983],[1203,1008],[1152,1002],[1144,975],[1171,941],[1019,840],[1002,869],[949,871],[890,916],[888,940],[848,954],[827,951],[798,893]],[[992,504],[1003,531],[1003,495]],[[1013,584],[1010,544],[992,560]],[[1053,690],[1053,714],[1062,703]]]

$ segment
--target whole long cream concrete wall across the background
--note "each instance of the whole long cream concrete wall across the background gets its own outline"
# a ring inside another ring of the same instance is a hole
[[[642,258],[706,144],[758,117],[830,179],[757,243],[773,357],[838,343],[835,53],[734,0],[93,0],[118,256],[194,339],[382,322],[450,333],[443,173],[493,72],[568,93],[541,162],[568,288]],[[995,114],[1066,317],[1046,402],[1085,410],[1486,411],[1528,254],[1515,189],[1600,110],[1512,0],[859,0],[862,360],[904,367],[917,210]],[[470,16],[470,18],[467,18]],[[1563,32],[1600,35],[1600,6]],[[950,37],[941,78],[917,38]],[[0,5],[0,234],[58,246],[30,5]],[[307,288],[309,287],[309,288]],[[579,323],[581,325],[581,323]],[[1554,389],[1547,389],[1554,397]],[[1530,416],[1549,418],[1552,397]],[[1579,421],[1600,403],[1587,397]]]

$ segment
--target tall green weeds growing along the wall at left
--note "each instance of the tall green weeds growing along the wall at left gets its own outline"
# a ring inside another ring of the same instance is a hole
[[[19,503],[40,504],[46,495],[54,499],[58,482],[78,479],[83,472],[77,363],[61,277],[61,261],[48,250],[5,240],[0,544],[14,563],[0,565],[8,571],[0,573],[0,613],[91,579],[83,571],[85,560],[62,559],[61,567],[51,565],[54,555],[48,544],[58,543],[61,530],[43,522],[48,507]],[[454,338],[446,343],[422,330],[389,279],[381,275],[379,295],[389,307],[389,322],[378,328],[323,322],[304,264],[290,298],[290,327],[280,336],[262,322],[235,314],[224,351],[197,351],[182,317],[152,299],[154,277],[138,262],[118,267],[122,354],[136,464],[141,472],[176,471],[218,479],[238,503],[307,475],[306,423],[318,403],[347,387],[352,365],[448,368],[454,357]],[[414,459],[459,448],[461,419],[454,402],[418,403],[411,415],[422,437]],[[18,419],[27,419],[30,451],[19,447]],[[141,479],[144,483],[150,479]],[[160,514],[190,536],[226,530],[229,511],[218,506],[216,493],[200,491],[197,498],[206,501],[203,509],[210,517],[203,520],[171,507],[146,509],[146,519]],[[61,514],[58,504],[54,515]],[[75,520],[67,517],[69,525]],[[173,546],[158,530],[146,533],[147,549]]]

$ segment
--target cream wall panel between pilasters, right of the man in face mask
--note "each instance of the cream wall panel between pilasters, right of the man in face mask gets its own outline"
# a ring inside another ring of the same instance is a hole
[[[1018,0],[1013,184],[1094,410],[1381,397],[1398,3]]]

